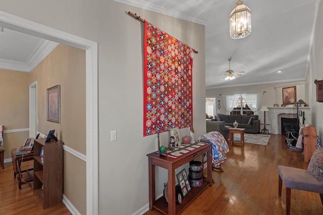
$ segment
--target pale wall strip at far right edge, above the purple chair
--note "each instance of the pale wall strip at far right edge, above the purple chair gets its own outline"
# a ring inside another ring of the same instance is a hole
[[[316,102],[316,86],[314,80],[323,80],[323,2],[319,2],[315,26],[314,41],[308,66],[309,104],[311,106],[312,124],[320,136],[322,144],[323,137],[323,103]]]

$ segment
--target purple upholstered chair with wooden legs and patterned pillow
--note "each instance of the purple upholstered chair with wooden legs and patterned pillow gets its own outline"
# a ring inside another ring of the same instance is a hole
[[[283,182],[286,187],[286,214],[291,207],[291,189],[305,190],[319,193],[323,205],[323,149],[315,150],[308,164],[307,170],[278,166],[279,185],[278,196],[282,197]]]

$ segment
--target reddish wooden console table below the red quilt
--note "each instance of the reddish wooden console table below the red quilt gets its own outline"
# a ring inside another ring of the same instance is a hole
[[[182,204],[176,205],[175,200],[175,169],[194,160],[198,156],[207,153],[207,178],[204,178],[203,185],[200,187],[191,186],[190,192],[183,198]],[[212,146],[206,144],[193,150],[179,158],[160,156],[154,152],[147,155],[149,161],[149,209],[156,210],[164,214],[178,214],[186,205],[192,202],[207,186],[212,186]],[[155,166],[163,167],[168,170],[168,206],[165,205],[165,198],[161,196],[157,200],[155,193]]]

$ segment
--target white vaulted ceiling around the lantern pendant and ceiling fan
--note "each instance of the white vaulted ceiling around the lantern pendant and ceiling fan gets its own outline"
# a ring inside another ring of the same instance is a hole
[[[115,1],[205,25],[206,88],[306,79],[319,0],[245,0],[252,33],[239,40],[229,36],[229,15],[238,0]],[[225,81],[229,57],[231,69],[245,73]]]

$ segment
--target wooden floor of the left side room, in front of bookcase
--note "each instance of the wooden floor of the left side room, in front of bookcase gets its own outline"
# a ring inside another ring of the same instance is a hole
[[[32,162],[32,161],[31,161]],[[30,162],[24,165],[32,166]],[[26,173],[24,173],[26,174]],[[5,169],[0,168],[0,214],[72,214],[63,202],[42,209],[40,202],[33,195],[33,184],[23,184],[21,190],[14,177],[11,163],[5,163]]]

